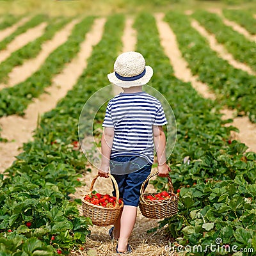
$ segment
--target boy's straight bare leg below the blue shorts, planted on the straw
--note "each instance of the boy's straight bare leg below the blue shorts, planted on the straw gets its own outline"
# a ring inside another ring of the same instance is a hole
[[[137,217],[137,207],[124,205],[120,219],[120,236],[118,239],[118,252],[126,252],[128,239],[132,234],[132,229]]]

